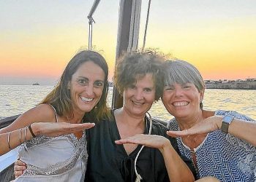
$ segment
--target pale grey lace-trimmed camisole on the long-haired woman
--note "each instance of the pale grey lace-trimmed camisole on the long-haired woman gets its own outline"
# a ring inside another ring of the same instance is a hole
[[[27,170],[15,181],[84,181],[88,159],[85,131],[80,139],[74,134],[40,135],[19,146],[18,153]]]

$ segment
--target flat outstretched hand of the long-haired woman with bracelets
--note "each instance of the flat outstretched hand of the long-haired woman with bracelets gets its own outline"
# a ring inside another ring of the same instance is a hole
[[[94,123],[70,124],[67,122],[35,122],[31,124],[31,128],[35,135],[54,137],[86,130],[94,127],[94,125]]]

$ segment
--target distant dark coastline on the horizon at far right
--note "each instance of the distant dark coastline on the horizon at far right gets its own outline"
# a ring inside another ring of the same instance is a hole
[[[205,80],[206,89],[256,90],[256,79]]]

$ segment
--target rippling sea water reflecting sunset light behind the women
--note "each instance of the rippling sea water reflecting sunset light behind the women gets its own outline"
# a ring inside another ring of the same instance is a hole
[[[41,85],[0,85],[0,119],[22,114],[39,103],[53,86]],[[111,105],[113,87],[110,87],[108,106]],[[213,90],[207,89],[203,99],[203,107],[209,110],[233,110],[256,119],[256,90]],[[149,111],[151,116],[169,120],[168,114],[159,100]]]

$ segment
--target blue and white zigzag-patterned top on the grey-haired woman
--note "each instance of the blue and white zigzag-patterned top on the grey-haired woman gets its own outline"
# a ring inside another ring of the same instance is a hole
[[[216,111],[215,115],[231,115],[245,122],[255,122],[236,111]],[[179,130],[176,119],[168,122],[170,130]],[[181,155],[192,160],[192,151],[181,138],[176,138]],[[215,130],[208,133],[203,143],[194,149],[197,161],[197,177],[214,176],[219,181],[256,181],[256,148],[233,135]]]

